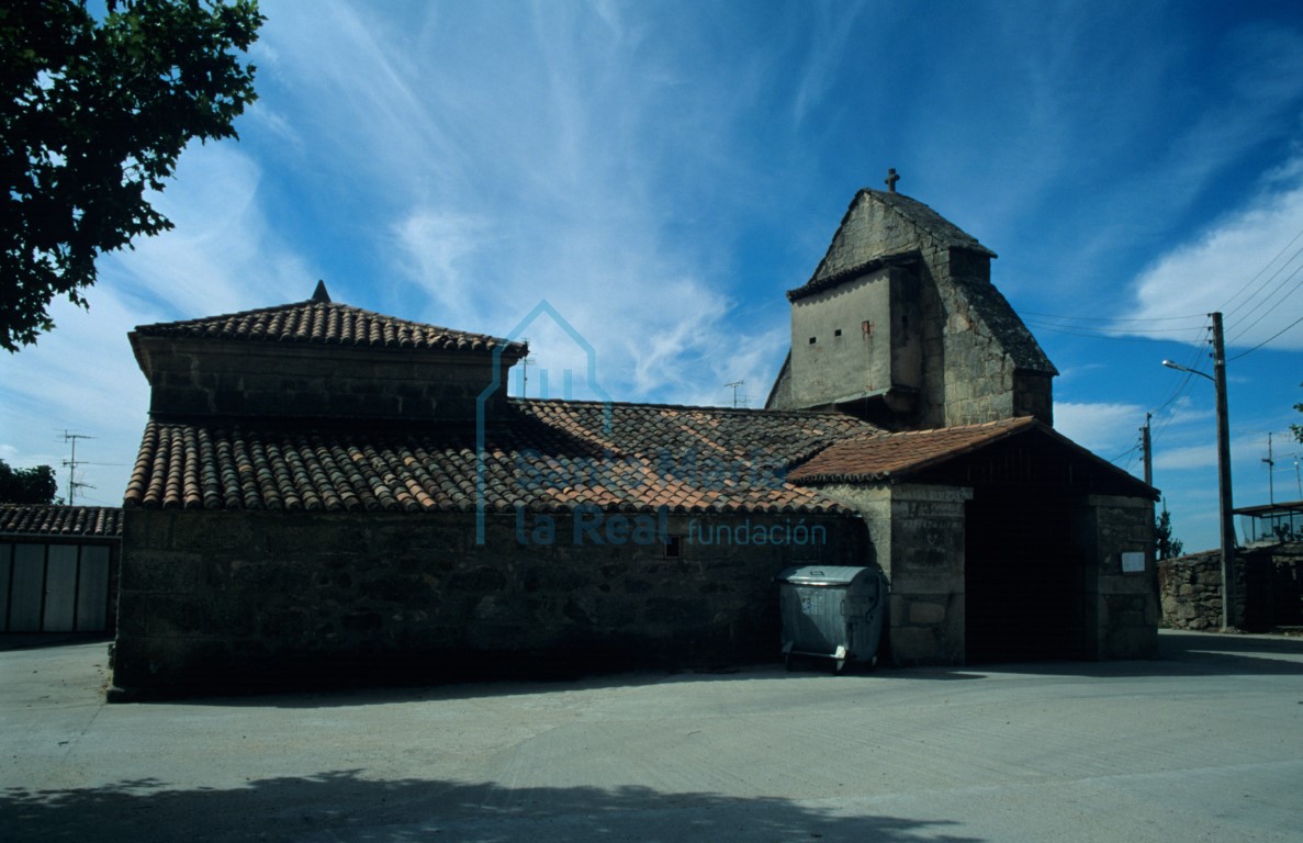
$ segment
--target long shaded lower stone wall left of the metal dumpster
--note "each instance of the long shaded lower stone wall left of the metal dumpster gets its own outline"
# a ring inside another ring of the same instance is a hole
[[[490,516],[481,546],[473,513],[129,509],[115,684],[437,681],[777,658],[773,577],[794,562],[861,564],[865,554],[850,516],[807,516],[827,538],[816,547],[790,532],[796,516],[671,515],[663,528],[679,555],[659,541],[576,545],[573,521],[551,517],[550,545],[525,513]],[[791,542],[743,543],[739,530],[762,524]]]

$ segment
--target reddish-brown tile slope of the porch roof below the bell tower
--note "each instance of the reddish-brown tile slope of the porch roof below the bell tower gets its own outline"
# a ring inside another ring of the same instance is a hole
[[[804,483],[890,479],[1033,427],[1050,430],[1035,418],[1022,417],[938,430],[861,434],[818,452],[804,465],[792,469],[788,479]]]

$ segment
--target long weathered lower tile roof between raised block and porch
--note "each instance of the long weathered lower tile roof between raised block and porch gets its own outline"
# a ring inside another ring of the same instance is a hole
[[[483,499],[674,512],[846,512],[783,474],[856,431],[837,413],[513,400],[487,431]],[[474,511],[474,430],[152,421],[125,506],[291,511]]]

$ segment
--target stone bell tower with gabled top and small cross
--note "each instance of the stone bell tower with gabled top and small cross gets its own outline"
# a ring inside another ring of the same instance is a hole
[[[769,409],[840,409],[893,430],[1053,423],[1058,374],[990,283],[995,253],[926,205],[860,190],[788,291],[791,352]]]

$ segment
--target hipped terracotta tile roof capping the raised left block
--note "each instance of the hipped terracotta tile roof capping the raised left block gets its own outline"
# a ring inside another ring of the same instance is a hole
[[[141,324],[133,335],[476,352],[490,352],[506,343],[486,334],[395,319],[318,298],[202,319]],[[509,343],[508,349],[523,353],[525,347]]]

